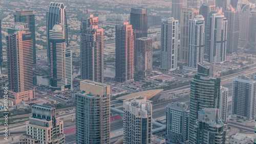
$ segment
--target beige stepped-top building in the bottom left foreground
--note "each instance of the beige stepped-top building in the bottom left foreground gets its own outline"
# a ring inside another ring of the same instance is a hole
[[[26,134],[19,137],[19,144],[27,143],[65,143],[63,121],[56,116],[55,108],[33,105],[32,116],[26,124]]]

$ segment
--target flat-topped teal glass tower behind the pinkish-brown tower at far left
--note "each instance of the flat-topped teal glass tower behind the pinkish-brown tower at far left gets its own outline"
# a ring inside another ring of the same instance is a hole
[[[14,22],[26,23],[33,41],[33,63],[36,63],[36,47],[35,47],[35,14],[32,10],[20,10],[14,14]]]

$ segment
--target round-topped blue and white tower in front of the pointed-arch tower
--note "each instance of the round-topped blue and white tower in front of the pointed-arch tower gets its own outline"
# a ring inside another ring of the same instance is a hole
[[[50,87],[55,91],[72,89],[72,55],[65,42],[63,25],[49,31]]]

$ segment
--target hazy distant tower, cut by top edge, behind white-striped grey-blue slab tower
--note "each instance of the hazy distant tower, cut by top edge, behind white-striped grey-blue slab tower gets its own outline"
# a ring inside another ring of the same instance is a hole
[[[174,19],[180,20],[182,6],[183,0],[172,1],[172,17],[174,17]]]

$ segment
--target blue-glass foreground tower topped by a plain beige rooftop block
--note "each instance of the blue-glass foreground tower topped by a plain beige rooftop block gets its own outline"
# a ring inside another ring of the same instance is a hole
[[[110,143],[110,85],[81,81],[75,105],[76,143]]]

